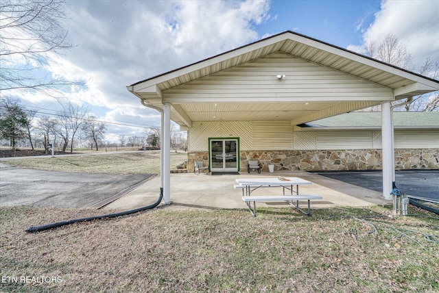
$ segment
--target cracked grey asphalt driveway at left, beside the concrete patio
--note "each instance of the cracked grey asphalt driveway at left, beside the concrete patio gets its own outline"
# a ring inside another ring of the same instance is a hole
[[[0,163],[0,207],[88,208],[150,176],[51,172]]]

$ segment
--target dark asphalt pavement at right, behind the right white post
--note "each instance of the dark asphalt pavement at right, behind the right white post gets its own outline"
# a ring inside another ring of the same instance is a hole
[[[327,171],[319,175],[383,192],[382,171]],[[439,170],[396,171],[396,187],[401,192],[428,199],[439,200]]]

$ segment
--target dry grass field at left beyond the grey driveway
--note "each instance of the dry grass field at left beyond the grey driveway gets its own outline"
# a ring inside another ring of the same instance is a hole
[[[171,152],[171,169],[187,160],[186,153]],[[59,155],[34,159],[2,161],[5,164],[38,170],[111,173],[111,174],[159,174],[160,151],[134,153],[98,153],[96,155]]]

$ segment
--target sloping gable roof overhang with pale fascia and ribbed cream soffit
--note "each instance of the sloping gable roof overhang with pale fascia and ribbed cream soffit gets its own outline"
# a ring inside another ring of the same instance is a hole
[[[268,42],[268,44],[265,44],[266,42]],[[326,49],[323,49],[324,47],[326,47]],[[252,42],[236,49],[220,53],[211,58],[206,58],[193,64],[168,71],[167,73],[137,81],[131,86],[138,86],[145,83],[147,85],[158,84],[157,81],[165,80],[163,84],[161,84],[161,89],[164,90],[218,71],[224,71],[227,68],[261,58],[263,55],[268,55],[276,51],[282,51],[309,62],[331,67],[391,88],[407,86],[407,84],[411,84],[412,82],[410,81],[416,79],[416,77],[439,84],[439,81],[436,79],[407,71],[404,68],[370,58],[366,55],[361,55],[354,51],[349,51],[342,47],[337,47],[333,44],[298,34],[294,31],[284,31],[257,42]],[[235,57],[230,58],[232,55],[235,55]],[[361,64],[363,64],[363,68],[360,68]],[[199,67],[200,69],[197,69]],[[392,73],[386,73],[385,71],[392,71]],[[399,78],[394,77],[389,79],[389,77],[392,77],[392,74],[397,73],[400,75]],[[177,75],[177,77],[173,79],[172,77],[174,75]],[[405,80],[404,77],[408,79],[408,75],[412,75],[411,79]],[[171,79],[169,79],[169,77],[171,77]]]

